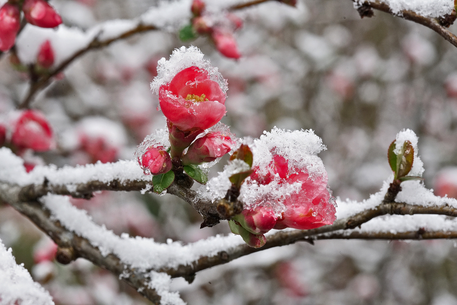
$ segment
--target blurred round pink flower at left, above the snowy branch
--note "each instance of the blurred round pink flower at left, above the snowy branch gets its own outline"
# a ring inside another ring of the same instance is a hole
[[[46,151],[53,146],[53,131],[48,120],[36,110],[23,111],[16,121],[11,142],[18,149]]]

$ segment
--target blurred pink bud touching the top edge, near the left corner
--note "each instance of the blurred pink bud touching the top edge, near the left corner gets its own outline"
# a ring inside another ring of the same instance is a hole
[[[57,27],[62,23],[60,15],[44,0],[25,0],[22,11],[27,21],[37,27]]]

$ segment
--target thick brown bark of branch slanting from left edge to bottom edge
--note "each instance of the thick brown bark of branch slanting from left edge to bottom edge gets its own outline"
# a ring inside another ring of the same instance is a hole
[[[41,203],[37,201],[21,202],[20,191],[21,188],[18,186],[0,182],[0,201],[9,203],[53,239],[58,245],[56,255],[58,262],[68,264],[78,257],[83,257],[117,276],[122,275],[121,278],[137,289],[139,293],[154,304],[160,303],[160,296],[154,289],[149,288],[147,272],[128,268],[113,254],[103,255],[98,247],[90,244],[90,241],[67,230],[58,220],[52,219],[49,210]]]

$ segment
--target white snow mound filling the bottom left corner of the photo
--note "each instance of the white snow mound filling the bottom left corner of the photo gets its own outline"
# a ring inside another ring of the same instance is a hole
[[[35,283],[22,265],[17,265],[0,240],[0,304],[53,305],[48,291]]]

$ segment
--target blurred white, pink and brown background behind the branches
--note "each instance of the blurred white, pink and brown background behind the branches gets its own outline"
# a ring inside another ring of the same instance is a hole
[[[134,18],[154,0],[52,0],[67,26]],[[149,91],[157,60],[195,45],[228,79],[223,123],[239,137],[274,126],[313,129],[335,197],[361,201],[391,173],[388,145],[403,128],[419,136],[425,185],[457,196],[457,49],[430,29],[375,11],[361,20],[352,1],[276,1],[234,12],[242,57],[227,59],[205,36],[147,32],[77,59],[32,103],[51,123],[56,148],[28,152],[32,164],[132,159],[144,136],[165,127]],[[456,26],[451,26],[457,32]],[[15,109],[28,76],[0,59],[0,113]],[[213,167],[215,175],[223,162]],[[197,184],[197,183],[196,183]],[[183,242],[228,233],[200,230],[201,216],[172,196],[101,192],[72,199],[120,234]],[[83,259],[53,262],[55,247],[27,219],[0,205],[0,239],[58,305],[150,304]],[[260,251],[174,281],[189,304],[457,305],[455,241],[318,241]]]

